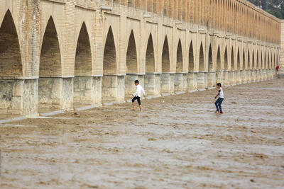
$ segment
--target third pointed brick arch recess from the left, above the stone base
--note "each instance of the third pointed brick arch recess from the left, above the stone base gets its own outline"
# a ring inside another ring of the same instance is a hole
[[[75,76],[92,75],[92,53],[89,42],[89,34],[85,23],[82,23],[80,34],[77,40],[75,56]]]

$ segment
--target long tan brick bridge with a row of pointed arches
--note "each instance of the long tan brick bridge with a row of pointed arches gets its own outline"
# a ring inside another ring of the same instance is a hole
[[[36,115],[273,79],[278,18],[244,0],[0,0],[0,110]]]

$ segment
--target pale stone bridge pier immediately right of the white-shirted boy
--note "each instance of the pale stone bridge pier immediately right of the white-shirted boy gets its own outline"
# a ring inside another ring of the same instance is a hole
[[[144,78],[147,96],[160,96],[160,74],[147,73]]]

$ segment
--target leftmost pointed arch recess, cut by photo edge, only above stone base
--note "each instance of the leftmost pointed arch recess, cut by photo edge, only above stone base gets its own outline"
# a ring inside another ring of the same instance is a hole
[[[21,77],[23,67],[18,34],[10,10],[0,28],[0,77]]]

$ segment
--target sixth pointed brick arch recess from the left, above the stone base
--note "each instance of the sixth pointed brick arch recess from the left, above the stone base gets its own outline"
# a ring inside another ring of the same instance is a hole
[[[155,53],[152,34],[150,33],[146,50],[146,73],[155,72]]]

